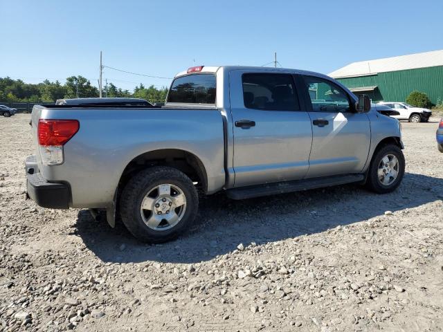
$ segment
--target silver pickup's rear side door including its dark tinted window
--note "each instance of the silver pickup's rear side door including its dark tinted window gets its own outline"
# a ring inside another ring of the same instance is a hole
[[[235,187],[303,178],[312,129],[293,76],[230,72]]]

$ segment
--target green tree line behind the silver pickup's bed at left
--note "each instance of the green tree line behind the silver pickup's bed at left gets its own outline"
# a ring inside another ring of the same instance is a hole
[[[134,91],[120,89],[112,83],[107,84],[102,95],[105,97],[142,98],[149,102],[164,102],[168,89],[157,89],[154,85],[136,86]],[[10,77],[0,77],[0,102],[55,102],[62,98],[98,97],[98,89],[82,76],[66,78],[64,84],[59,81],[30,84],[22,80],[12,80]]]

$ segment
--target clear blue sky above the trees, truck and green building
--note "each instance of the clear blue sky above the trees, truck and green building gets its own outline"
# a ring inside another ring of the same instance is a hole
[[[329,73],[350,62],[443,48],[443,1],[0,0],[0,77],[41,82],[103,64],[172,77],[193,65]],[[105,68],[123,89],[169,80]]]

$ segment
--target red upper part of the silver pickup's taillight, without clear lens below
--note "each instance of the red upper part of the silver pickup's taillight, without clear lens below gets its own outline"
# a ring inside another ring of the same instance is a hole
[[[66,144],[78,131],[77,120],[39,120],[37,136],[44,147]]]

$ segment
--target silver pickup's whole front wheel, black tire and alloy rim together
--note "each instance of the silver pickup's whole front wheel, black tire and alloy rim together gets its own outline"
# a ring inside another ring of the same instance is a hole
[[[379,194],[393,192],[403,179],[404,167],[401,149],[397,145],[385,145],[372,158],[366,185]]]

